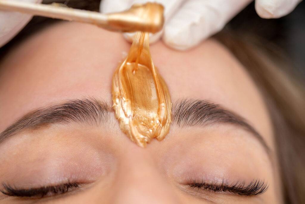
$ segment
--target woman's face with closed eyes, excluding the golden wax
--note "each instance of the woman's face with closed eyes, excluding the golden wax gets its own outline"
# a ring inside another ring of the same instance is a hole
[[[10,195],[0,203],[282,202],[270,117],[232,54],[212,39],[187,52],[151,46],[174,122],[141,148],[111,109],[129,47],[118,33],[65,22],[5,57],[0,190]]]

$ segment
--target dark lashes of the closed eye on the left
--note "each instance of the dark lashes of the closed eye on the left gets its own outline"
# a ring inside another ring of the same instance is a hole
[[[39,188],[18,189],[7,184],[2,184],[4,190],[0,190],[5,195],[16,197],[37,197],[60,195],[80,187],[79,183],[66,183],[56,186],[44,186]]]

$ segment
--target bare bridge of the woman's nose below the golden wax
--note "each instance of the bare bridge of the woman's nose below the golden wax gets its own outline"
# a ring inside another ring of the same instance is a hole
[[[118,165],[112,203],[178,203],[173,187],[148,151],[128,152],[123,160]]]

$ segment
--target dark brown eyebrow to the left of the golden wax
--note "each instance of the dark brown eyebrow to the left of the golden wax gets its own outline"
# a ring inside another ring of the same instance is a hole
[[[109,112],[106,102],[95,98],[70,100],[47,106],[27,113],[6,128],[0,133],[0,143],[18,132],[45,125],[70,123],[98,125],[107,121]]]

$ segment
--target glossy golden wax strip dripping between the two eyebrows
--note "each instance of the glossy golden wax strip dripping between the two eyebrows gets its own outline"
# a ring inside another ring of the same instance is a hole
[[[113,76],[113,109],[121,130],[141,147],[162,140],[171,123],[170,94],[153,65],[149,33],[138,32]]]

